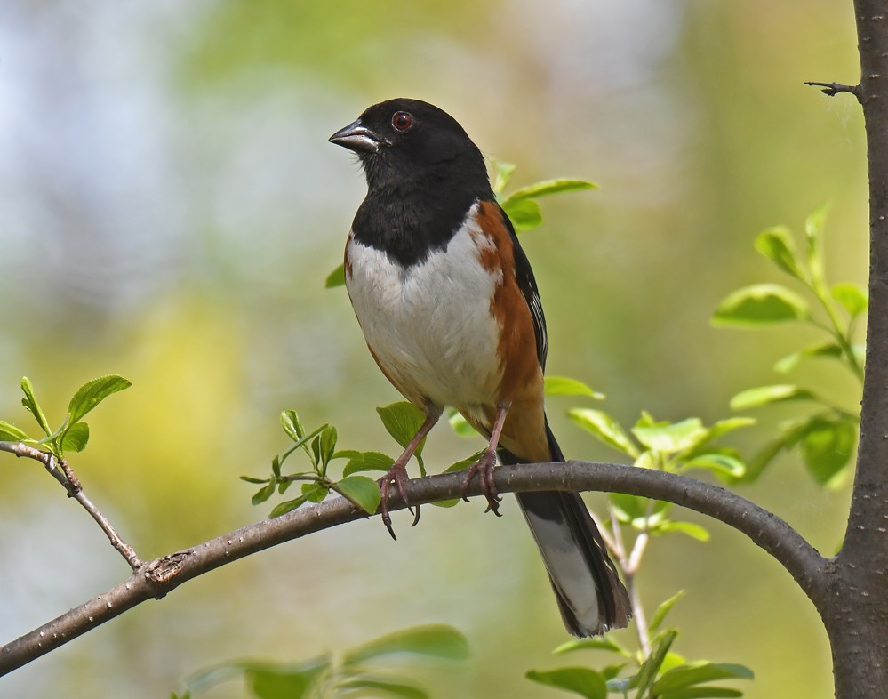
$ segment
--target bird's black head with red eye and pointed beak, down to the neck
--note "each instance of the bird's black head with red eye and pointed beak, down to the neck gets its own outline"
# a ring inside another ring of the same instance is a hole
[[[428,102],[399,98],[374,104],[330,141],[357,154],[371,189],[429,177],[490,187],[481,151],[456,119]]]

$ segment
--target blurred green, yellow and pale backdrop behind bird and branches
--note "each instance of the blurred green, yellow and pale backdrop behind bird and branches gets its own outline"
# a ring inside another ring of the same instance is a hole
[[[708,324],[737,286],[778,278],[752,249],[760,229],[798,231],[831,200],[828,272],[865,279],[859,110],[803,84],[856,81],[851,5],[5,0],[0,415],[28,425],[23,375],[56,420],[80,383],[131,379],[92,417],[75,465],[143,558],[267,515],[237,477],[268,470],[284,407],[334,422],[342,446],[395,451],[373,407],[398,397],[346,294],[323,288],[364,195],[354,159],[326,139],[406,95],[517,163],[516,186],[600,184],[544,201],[544,227],[524,237],[550,371],[604,391],[624,422],[643,408],[725,417],[737,390],[780,380],[772,362],[799,338]],[[792,378],[856,403],[821,366]],[[564,418],[574,404],[550,404],[565,452],[615,458]],[[747,454],[787,413],[757,416],[738,438]],[[477,446],[443,426],[428,462]],[[128,571],[35,463],[0,462],[6,640]],[[820,490],[795,456],[741,493],[820,550],[839,545],[847,485]],[[0,680],[0,695],[166,696],[222,660],[298,660],[443,622],[475,660],[430,672],[437,696],[554,696],[524,671],[612,659],[548,655],[565,636],[532,542],[511,502],[502,519],[483,509],[427,508],[416,529],[398,517],[397,543],[372,520],[227,566]],[[644,569],[650,607],[688,591],[676,650],[749,665],[749,697],[831,696],[812,606],[740,534],[711,530],[705,544],[655,542]]]

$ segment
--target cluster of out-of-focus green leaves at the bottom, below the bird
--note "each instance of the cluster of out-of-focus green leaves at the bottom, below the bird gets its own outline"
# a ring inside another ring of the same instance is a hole
[[[185,691],[172,699],[191,699],[236,678],[243,678],[257,699],[428,699],[428,689],[416,679],[420,661],[461,662],[468,657],[468,641],[459,631],[442,624],[414,626],[301,663],[225,663],[187,679]],[[393,661],[399,662],[399,670],[386,667]]]

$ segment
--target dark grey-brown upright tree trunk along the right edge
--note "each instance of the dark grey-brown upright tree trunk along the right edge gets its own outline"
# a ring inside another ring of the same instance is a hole
[[[860,84],[852,92],[867,130],[870,302],[851,512],[818,604],[838,699],[888,692],[888,4],[855,0],[854,10]]]

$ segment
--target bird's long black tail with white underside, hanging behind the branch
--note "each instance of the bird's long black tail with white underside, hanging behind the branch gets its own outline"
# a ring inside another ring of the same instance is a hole
[[[564,454],[546,424],[553,462]],[[520,463],[500,449],[504,464]],[[516,493],[548,571],[564,625],[586,637],[623,628],[632,615],[629,597],[607,555],[598,527],[578,493]]]

